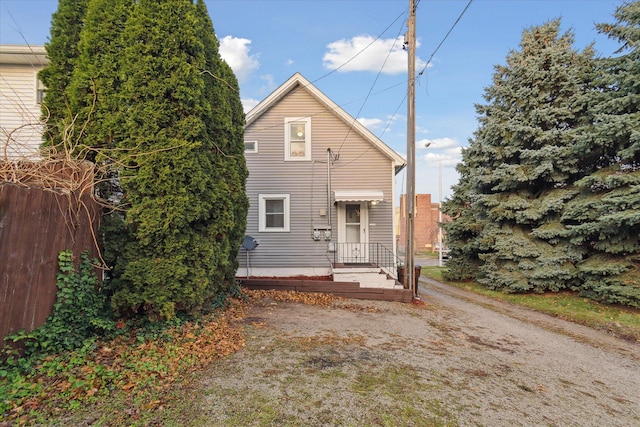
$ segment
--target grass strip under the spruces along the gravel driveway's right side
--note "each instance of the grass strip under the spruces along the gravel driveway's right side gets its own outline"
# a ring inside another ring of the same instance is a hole
[[[475,282],[447,282],[441,267],[423,267],[421,275],[496,300],[531,308],[574,323],[613,333],[640,342],[640,310],[600,304],[574,292],[513,294],[487,289]]]

